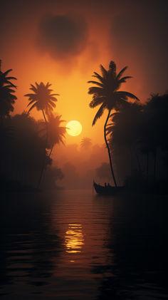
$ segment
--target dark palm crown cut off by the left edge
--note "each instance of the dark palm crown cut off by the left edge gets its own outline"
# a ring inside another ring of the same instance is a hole
[[[15,77],[9,76],[9,72],[12,69],[9,69],[6,72],[1,71],[1,60],[0,60],[0,118],[1,123],[3,122],[4,117],[9,117],[9,114],[14,111],[14,103],[16,95],[14,95],[16,86],[14,83],[11,83],[11,80],[16,80]]]

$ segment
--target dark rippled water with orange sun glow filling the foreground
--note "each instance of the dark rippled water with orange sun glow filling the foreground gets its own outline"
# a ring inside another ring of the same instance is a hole
[[[1,197],[0,297],[168,299],[165,196]]]

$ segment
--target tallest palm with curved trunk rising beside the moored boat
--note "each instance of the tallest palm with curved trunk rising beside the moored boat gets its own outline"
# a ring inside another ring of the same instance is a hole
[[[95,125],[98,118],[100,118],[103,115],[104,110],[107,109],[108,114],[104,125],[104,138],[110,160],[112,178],[114,180],[115,187],[117,187],[112,167],[110,148],[107,143],[106,125],[110,117],[111,110],[120,110],[120,108],[122,108],[123,106],[128,105],[128,98],[132,98],[135,100],[139,99],[132,93],[119,90],[121,84],[125,83],[128,78],[131,78],[131,76],[122,77],[122,74],[127,70],[127,67],[122,68],[122,70],[117,74],[116,64],[114,63],[114,61],[110,61],[108,70],[106,70],[102,65],[100,65],[100,70],[102,75],[96,72],[94,72],[93,75],[93,77],[97,78],[98,81],[88,81],[88,83],[93,83],[95,85],[90,87],[88,90],[88,93],[93,95],[93,99],[90,102],[90,108],[95,108],[96,106],[100,105],[100,108],[95,115],[92,125]]]

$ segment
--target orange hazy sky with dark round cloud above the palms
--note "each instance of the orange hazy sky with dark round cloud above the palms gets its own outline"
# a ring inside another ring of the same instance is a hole
[[[100,63],[129,66],[134,78],[122,87],[145,100],[168,88],[167,0],[1,1],[2,71],[18,78],[15,113],[26,109],[30,83],[50,81],[60,93],[57,112],[79,120],[83,136],[103,141],[103,121],[91,128],[88,83]],[[40,115],[33,113],[40,118]]]

